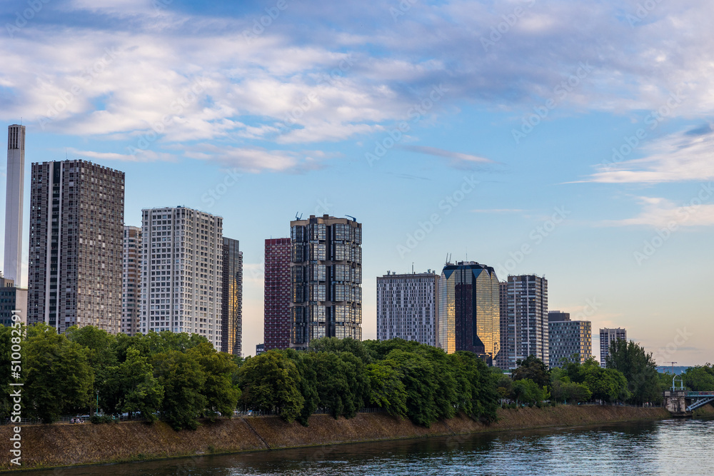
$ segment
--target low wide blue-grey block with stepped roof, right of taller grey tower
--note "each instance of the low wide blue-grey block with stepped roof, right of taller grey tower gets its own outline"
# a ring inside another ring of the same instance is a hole
[[[562,366],[563,359],[584,363],[593,356],[593,325],[589,320],[570,320],[569,313],[548,312],[548,367]]]

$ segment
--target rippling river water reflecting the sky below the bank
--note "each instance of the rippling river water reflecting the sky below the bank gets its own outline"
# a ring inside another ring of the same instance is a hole
[[[714,420],[498,432],[208,455],[24,475],[714,475]]]

